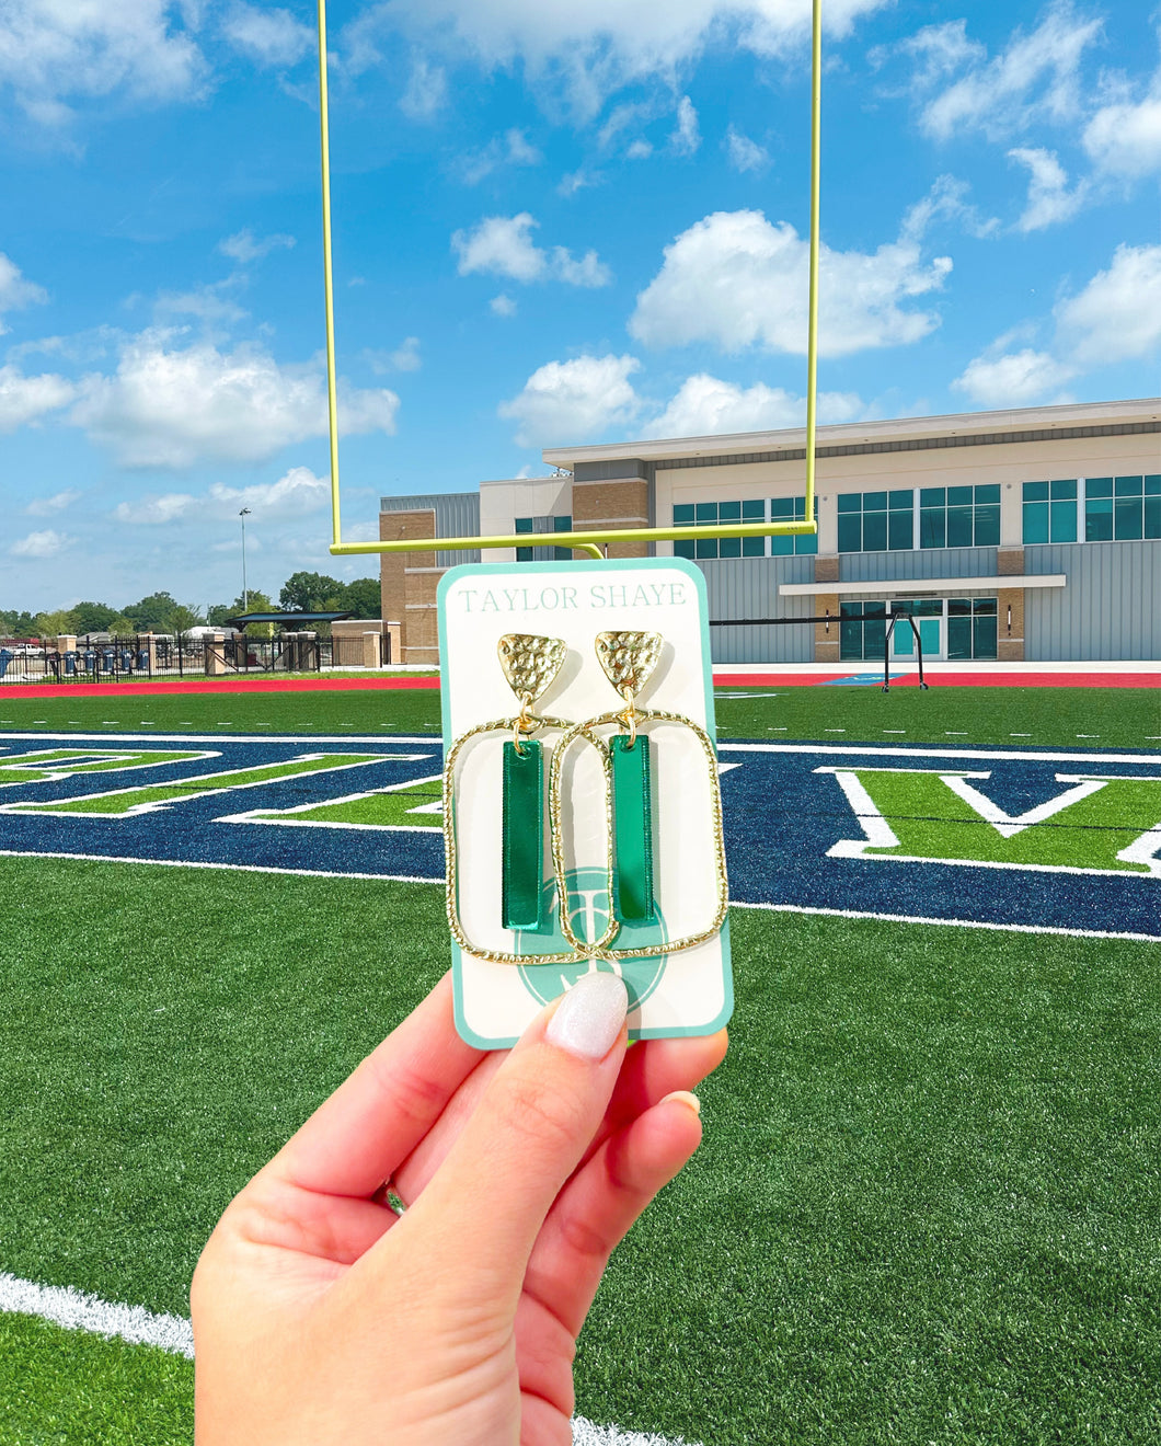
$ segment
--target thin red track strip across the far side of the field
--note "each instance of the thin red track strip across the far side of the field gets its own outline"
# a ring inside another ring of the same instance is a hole
[[[714,672],[717,687],[797,688],[817,687],[849,678],[854,669],[841,668],[834,672]],[[870,672],[872,669],[863,669]],[[1161,688],[1161,669],[1157,672],[928,672],[933,688]],[[905,672],[891,678],[894,688],[911,688],[920,681],[918,672]],[[854,684],[857,687],[859,684]],[[863,687],[876,687],[876,683]],[[127,697],[134,693],[181,694],[181,693],[341,693],[366,691],[372,688],[438,688],[435,674],[421,677],[387,678],[187,678],[181,681],[142,683],[65,683],[27,687],[13,684],[4,694],[10,698],[93,698]]]

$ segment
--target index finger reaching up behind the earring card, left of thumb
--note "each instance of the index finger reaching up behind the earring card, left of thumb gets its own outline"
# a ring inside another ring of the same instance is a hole
[[[267,1165],[322,1194],[372,1196],[483,1058],[453,1019],[451,975],[373,1050]]]

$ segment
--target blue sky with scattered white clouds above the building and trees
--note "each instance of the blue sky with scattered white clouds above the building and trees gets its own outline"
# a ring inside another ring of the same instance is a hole
[[[1161,12],[824,0],[820,421],[1158,392]],[[800,425],[808,0],[331,0],[344,539]],[[0,607],[340,578],[312,3],[0,7]]]

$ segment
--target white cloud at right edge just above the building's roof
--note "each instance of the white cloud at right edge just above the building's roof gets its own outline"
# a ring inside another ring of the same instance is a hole
[[[985,405],[1027,405],[1086,372],[1134,362],[1161,347],[1161,246],[1119,246],[1076,296],[1054,309],[1047,350],[1008,351],[1001,337],[951,385]]]

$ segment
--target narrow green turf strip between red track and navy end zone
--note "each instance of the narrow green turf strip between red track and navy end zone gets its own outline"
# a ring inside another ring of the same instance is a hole
[[[730,697],[732,693],[752,694]],[[756,696],[755,696],[756,694]],[[894,687],[720,688],[720,737],[826,743],[1155,749],[1161,698],[1151,688]],[[435,688],[341,693],[123,694],[20,698],[0,690],[0,730],[175,733],[438,733]]]

